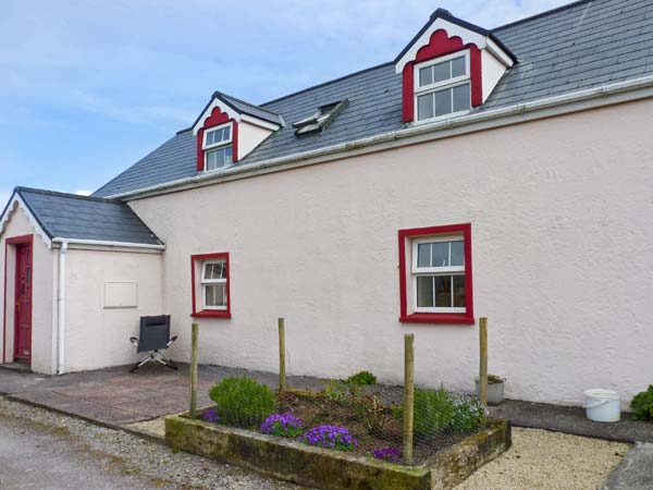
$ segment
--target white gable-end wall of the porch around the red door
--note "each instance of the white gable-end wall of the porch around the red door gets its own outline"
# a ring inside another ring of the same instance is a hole
[[[5,240],[13,236],[34,234],[33,243],[33,277],[32,277],[32,370],[46,375],[57,370],[54,329],[56,298],[53,282],[52,250],[35,233],[25,211],[16,207],[11,215],[7,228],[0,235],[0,328],[2,328],[2,308],[4,304],[4,250]],[[7,271],[7,345],[0,339],[0,345],[5,353],[8,363],[13,360],[14,345],[14,284],[15,284],[15,247],[9,245]],[[0,338],[1,338],[0,333]],[[1,352],[1,351],[0,351]],[[0,356],[1,362],[1,356]]]

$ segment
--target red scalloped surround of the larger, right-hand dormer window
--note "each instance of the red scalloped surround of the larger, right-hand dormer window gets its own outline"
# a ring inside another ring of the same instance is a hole
[[[448,37],[446,30],[438,29],[429,39],[429,44],[422,46],[417,51],[415,60],[406,63],[404,66],[403,77],[403,101],[404,122],[415,120],[415,65],[422,61],[433,60],[446,54],[469,49],[469,83],[471,93],[471,106],[480,106],[483,103],[483,79],[481,76],[481,50],[473,44],[463,45],[463,39],[458,36]]]

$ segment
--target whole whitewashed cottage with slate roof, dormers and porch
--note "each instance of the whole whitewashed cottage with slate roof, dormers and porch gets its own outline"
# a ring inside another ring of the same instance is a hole
[[[2,215],[2,360],[178,360],[471,389],[479,316],[514,399],[628,402],[653,371],[653,3],[579,1],[491,30],[436,10],[391,62],[188,128],[83,198]]]

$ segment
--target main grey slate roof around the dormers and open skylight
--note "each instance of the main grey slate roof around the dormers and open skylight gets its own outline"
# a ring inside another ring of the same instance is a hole
[[[582,0],[491,33],[519,61],[476,111],[653,75],[651,0]],[[320,106],[345,98],[349,103],[326,131],[295,135],[293,122],[310,117]],[[242,159],[239,166],[406,127],[402,122],[402,75],[395,74],[393,62],[262,103],[260,108],[281,114],[286,125]],[[182,131],[95,195],[116,195],[195,176],[195,151],[192,133]]]

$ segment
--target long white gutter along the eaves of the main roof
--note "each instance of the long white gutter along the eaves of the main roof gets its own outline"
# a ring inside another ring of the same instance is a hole
[[[616,97],[618,95],[623,96]],[[619,82],[616,84],[604,85],[587,90],[579,90],[571,94],[564,94],[560,96],[540,99],[527,103],[518,103],[500,109],[483,110],[456,119],[438,121],[435,123],[416,124],[404,130],[384,133],[378,136],[370,136],[317,150],[274,158],[258,163],[232,167],[222,171],[202,173],[200,175],[180,179],[136,191],[113,194],[108,197],[123,200],[138,199],[158,194],[184,191],[218,182],[229,182],[236,179],[245,179],[264,174],[272,171],[321,163],[338,158],[346,158],[398,146],[442,139],[458,134],[484,131],[508,124],[516,124],[528,120],[550,118],[578,110],[609,106],[613,103],[626,102],[646,97],[653,97],[653,76]],[[580,107],[570,107],[571,105]],[[532,115],[529,118],[528,115],[531,113]]]

